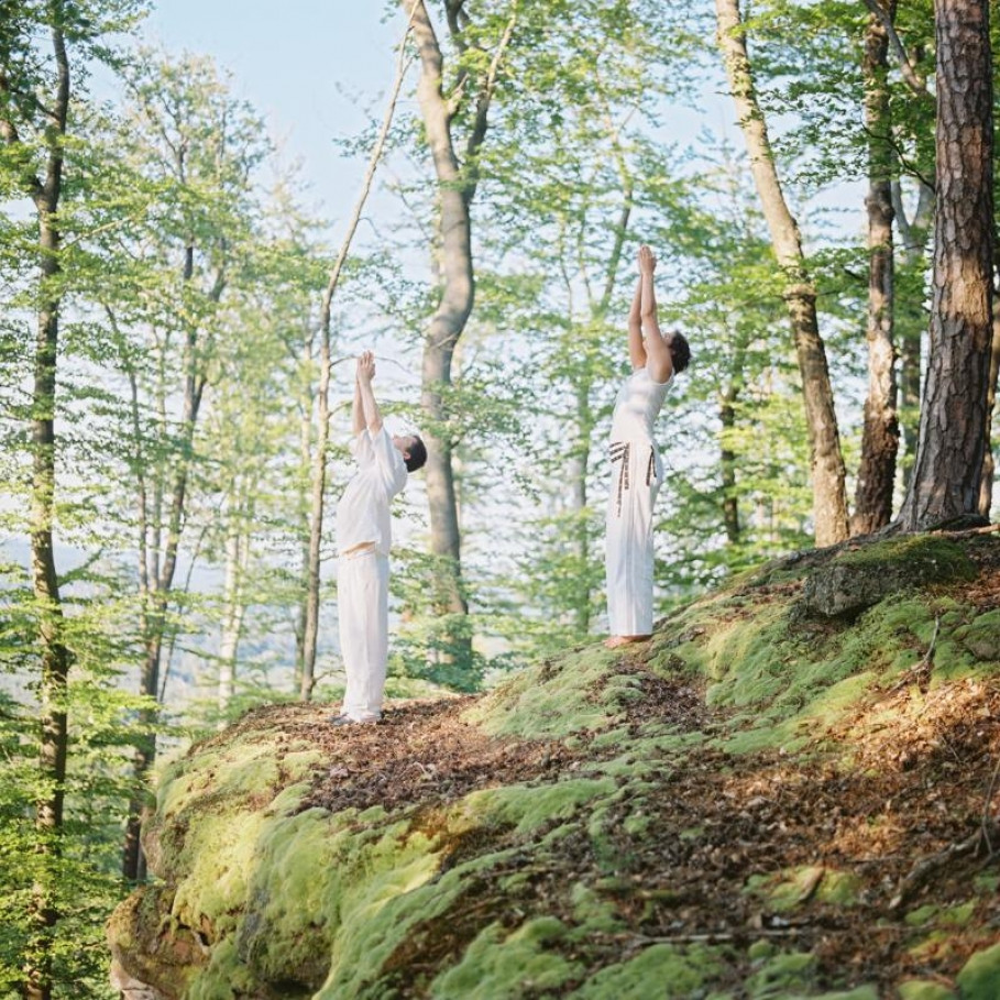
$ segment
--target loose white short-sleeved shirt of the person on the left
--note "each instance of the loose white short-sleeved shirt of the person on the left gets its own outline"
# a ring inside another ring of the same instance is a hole
[[[337,548],[341,553],[373,545],[388,556],[393,541],[389,506],[406,485],[406,465],[385,427],[377,433],[367,428],[355,435],[351,452],[358,471],[337,504]]]

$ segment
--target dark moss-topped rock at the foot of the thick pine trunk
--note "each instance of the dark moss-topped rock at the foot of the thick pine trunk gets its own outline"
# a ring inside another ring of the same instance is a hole
[[[975,563],[943,538],[911,535],[845,549],[805,581],[802,607],[827,618],[857,615],[886,597],[933,583],[971,580]]]

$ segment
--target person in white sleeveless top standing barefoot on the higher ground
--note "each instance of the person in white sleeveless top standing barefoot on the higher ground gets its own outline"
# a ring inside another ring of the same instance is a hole
[[[652,508],[663,464],[652,428],[673,376],[691,360],[680,333],[660,330],[652,287],[656,257],[639,248],[639,281],[628,314],[633,373],[615,400],[605,570],[609,649],[652,635]]]

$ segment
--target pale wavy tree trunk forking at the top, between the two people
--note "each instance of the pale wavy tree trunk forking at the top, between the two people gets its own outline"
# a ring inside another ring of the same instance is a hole
[[[441,614],[464,617],[469,613],[469,604],[462,582],[462,539],[452,463],[454,440],[449,429],[446,395],[451,385],[455,345],[465,329],[475,297],[470,211],[477,180],[475,158],[486,135],[496,74],[509,43],[515,19],[512,17],[508,22],[507,31],[479,88],[463,168],[452,134],[457,108],[446,99],[442,90],[444,59],[427,7],[424,0],[402,2],[405,9],[413,9],[414,35],[420,58],[417,99],[438,182],[440,298],[424,340],[420,394],[427,417],[422,433],[428,453],[426,481],[430,548],[439,567],[436,604]],[[451,4],[449,24],[454,41],[461,48],[460,19],[457,15],[460,7],[461,4]],[[449,659],[461,663],[471,661],[472,638],[466,628],[459,626],[448,629],[447,645]]]

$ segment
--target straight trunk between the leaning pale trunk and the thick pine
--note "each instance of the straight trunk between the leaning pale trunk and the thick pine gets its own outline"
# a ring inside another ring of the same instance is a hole
[[[890,0],[888,15],[892,19],[894,14],[895,0]],[[886,28],[872,14],[868,19],[864,57],[868,134],[868,197],[865,199],[868,209],[868,398],[865,400],[851,535],[870,535],[889,524],[899,450],[888,51]]]

